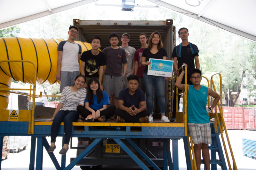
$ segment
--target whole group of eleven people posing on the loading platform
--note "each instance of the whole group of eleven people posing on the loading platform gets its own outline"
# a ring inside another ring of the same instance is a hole
[[[165,116],[164,99],[164,84],[169,78],[147,74],[149,58],[167,59],[167,52],[163,48],[158,32],[153,32],[149,39],[145,33],[141,33],[139,35],[141,48],[137,50],[128,45],[130,41],[128,33],[122,35],[120,47],[119,35],[111,33],[110,46],[104,48],[102,52],[99,51],[101,39],[95,36],[92,38],[92,49],[83,52],[82,55],[81,46],[75,43],[77,33],[78,28],[70,26],[68,40],[61,41],[58,45],[56,79],[60,80],[61,98],[52,119],[49,120],[53,123],[48,152],[53,152],[56,148],[55,139],[61,122],[64,122],[65,141],[60,154],[66,154],[68,150],[72,122],[82,122],[84,119],[88,122],[105,122],[113,115],[116,115],[117,122],[153,122],[154,90],[158,99],[161,122],[170,122]],[[184,69],[180,72],[177,70],[187,66],[188,129],[195,144],[197,167],[200,169],[202,149],[204,163],[208,169],[210,162],[208,144],[211,144],[208,113],[216,106],[220,96],[211,88],[200,85],[202,77],[199,70],[199,50],[196,45],[188,42],[188,29],[181,28],[178,34],[182,42],[172,51],[174,74],[179,75],[175,85],[179,90],[185,89]],[[80,60],[81,74],[79,74]],[[103,84],[101,84],[105,65]],[[210,108],[205,107],[208,95],[214,98]],[[175,100],[174,97],[172,121],[175,121]]]

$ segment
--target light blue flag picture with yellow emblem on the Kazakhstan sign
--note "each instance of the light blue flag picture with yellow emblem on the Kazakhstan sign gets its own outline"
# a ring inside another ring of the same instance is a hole
[[[150,60],[149,70],[172,72],[172,61],[170,60]]]

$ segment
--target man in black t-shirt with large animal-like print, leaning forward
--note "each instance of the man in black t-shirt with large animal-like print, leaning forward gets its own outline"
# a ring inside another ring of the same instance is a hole
[[[101,44],[100,37],[92,37],[92,49],[84,51],[81,55],[81,74],[86,77],[86,84],[91,78],[99,78],[100,89],[104,66],[106,65],[105,53],[99,51]]]

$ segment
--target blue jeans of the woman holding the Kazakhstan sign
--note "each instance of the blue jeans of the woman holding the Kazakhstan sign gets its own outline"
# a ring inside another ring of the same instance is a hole
[[[161,76],[151,76],[146,73],[143,74],[143,83],[146,90],[146,104],[150,115],[153,115],[154,107],[154,85],[156,87],[156,96],[158,99],[158,106],[160,114],[165,115],[165,99],[164,99],[164,83],[165,79]]]

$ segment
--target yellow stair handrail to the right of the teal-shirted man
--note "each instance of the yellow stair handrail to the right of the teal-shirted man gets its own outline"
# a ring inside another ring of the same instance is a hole
[[[229,151],[231,153],[231,157],[232,157],[232,161],[233,161],[233,169],[237,170],[236,161],[235,161],[235,158],[234,158],[234,154],[233,154],[231,144],[230,144],[230,141],[229,141],[229,137],[228,137],[227,128],[226,128],[224,118],[223,118],[223,112],[222,112],[222,79],[221,79],[221,74],[220,73],[216,73],[216,74],[212,75],[212,77],[211,77],[211,88],[213,88],[213,90],[216,92],[216,88],[215,88],[215,85],[214,85],[214,82],[213,82],[213,79],[212,79],[213,76],[215,76],[215,75],[219,75],[219,77],[220,77],[220,102],[218,102],[218,107],[219,107],[220,113],[217,113],[217,106],[215,106],[215,108],[214,108],[214,110],[215,110],[214,129],[215,129],[216,132],[218,132],[218,127],[219,127],[223,147],[224,147],[226,158],[227,158],[227,161],[228,161],[228,167],[229,167],[230,170],[232,170],[230,160],[229,160],[229,157],[228,157],[227,147],[226,147],[224,136],[223,136],[223,129],[224,129],[225,134],[226,134],[226,138],[227,138],[227,142],[228,142]],[[212,103],[212,98],[211,98],[211,103]],[[219,119],[219,117],[220,117],[220,119]],[[217,125],[218,125],[218,127],[217,127]]]

